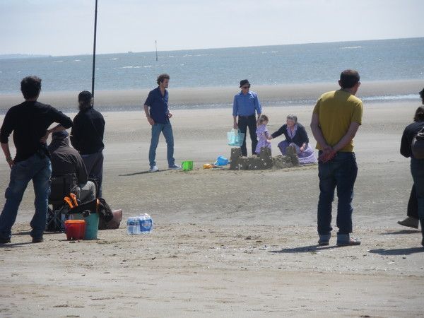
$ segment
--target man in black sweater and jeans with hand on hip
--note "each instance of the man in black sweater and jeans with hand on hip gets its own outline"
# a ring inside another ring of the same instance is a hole
[[[20,82],[25,102],[11,107],[4,117],[0,129],[1,148],[11,167],[11,179],[6,189],[6,202],[0,214],[0,244],[11,242],[11,228],[23,193],[30,180],[33,180],[35,192],[35,213],[30,225],[33,242],[42,242],[46,226],[46,215],[50,193],[50,175],[52,165],[46,140],[49,134],[72,126],[72,120],[50,105],[37,102],[41,91],[41,79],[28,76]],[[52,129],[49,126],[57,122]],[[12,160],[8,146],[8,137],[13,131],[13,143],[16,156]]]

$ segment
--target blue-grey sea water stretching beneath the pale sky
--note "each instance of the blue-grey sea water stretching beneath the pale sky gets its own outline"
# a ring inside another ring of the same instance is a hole
[[[0,94],[20,94],[20,80],[28,75],[42,78],[44,93],[91,90],[92,61],[89,54],[0,59]],[[95,91],[152,89],[160,73],[170,74],[170,88],[237,90],[244,78],[252,90],[336,83],[343,69],[358,70],[361,81],[424,82],[424,37],[160,51],[158,61],[155,52],[98,54],[95,66]],[[408,100],[416,93],[387,92],[365,100]]]

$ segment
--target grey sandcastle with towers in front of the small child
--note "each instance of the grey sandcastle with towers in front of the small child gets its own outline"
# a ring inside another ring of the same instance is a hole
[[[259,155],[243,157],[240,148],[231,148],[230,170],[282,169],[299,165],[298,154],[293,146],[286,150],[287,155],[271,156],[271,149],[261,148]]]

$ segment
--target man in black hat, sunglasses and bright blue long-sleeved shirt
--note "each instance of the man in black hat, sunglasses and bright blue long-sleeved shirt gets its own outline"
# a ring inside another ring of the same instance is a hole
[[[234,96],[234,102],[232,103],[232,117],[234,118],[234,129],[239,129],[242,134],[245,134],[245,139],[242,144],[242,155],[247,156],[246,148],[246,133],[247,127],[249,127],[250,139],[252,139],[252,154],[256,150],[257,146],[257,119],[255,117],[255,111],[258,119],[261,117],[261,104],[256,93],[249,91],[249,81],[240,81],[240,88],[242,91]],[[237,122],[238,117],[238,122]]]

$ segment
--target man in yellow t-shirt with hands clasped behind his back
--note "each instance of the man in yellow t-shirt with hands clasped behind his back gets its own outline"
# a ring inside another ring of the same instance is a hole
[[[353,137],[362,124],[363,104],[355,97],[360,86],[357,71],[341,72],[340,90],[323,94],[312,113],[311,129],[319,149],[318,245],[329,245],[331,204],[337,187],[337,245],[360,245],[352,232],[353,186],[358,166],[353,153]]]

